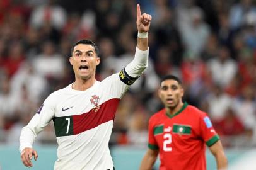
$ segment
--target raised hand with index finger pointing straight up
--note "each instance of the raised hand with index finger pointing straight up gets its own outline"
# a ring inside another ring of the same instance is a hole
[[[141,14],[141,8],[139,4],[137,4],[137,30],[139,33],[146,33],[149,30],[150,22],[152,20],[152,16],[150,14],[143,13]]]

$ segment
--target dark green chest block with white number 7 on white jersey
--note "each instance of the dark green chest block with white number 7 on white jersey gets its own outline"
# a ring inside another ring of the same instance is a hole
[[[73,135],[74,134],[73,117],[72,116],[55,117],[54,128],[55,128],[56,137]],[[67,128],[68,128],[68,132],[67,132]]]

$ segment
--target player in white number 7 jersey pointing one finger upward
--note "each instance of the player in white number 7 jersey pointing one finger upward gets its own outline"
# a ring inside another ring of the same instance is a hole
[[[21,131],[21,161],[26,167],[32,167],[32,157],[38,157],[32,147],[35,137],[53,120],[59,145],[55,170],[114,169],[108,148],[113,119],[120,98],[148,65],[151,19],[151,15],[141,14],[137,5],[134,60],[101,82],[95,79],[96,65],[100,64],[95,43],[81,40],[73,45],[69,61],[76,78],[74,83],[50,94]]]

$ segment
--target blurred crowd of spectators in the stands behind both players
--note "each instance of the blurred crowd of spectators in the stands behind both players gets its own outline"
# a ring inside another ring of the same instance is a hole
[[[77,40],[100,48],[99,81],[133,59],[137,3],[153,16],[149,66],[122,98],[110,143],[147,145],[148,118],[163,107],[159,80],[175,74],[225,147],[256,146],[254,0],[1,0],[0,143],[18,144],[44,99],[74,81]],[[53,123],[37,142],[55,144]]]

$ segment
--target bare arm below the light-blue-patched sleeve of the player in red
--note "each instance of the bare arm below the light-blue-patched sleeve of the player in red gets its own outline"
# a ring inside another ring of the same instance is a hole
[[[219,140],[215,144],[213,144],[209,149],[212,152],[212,155],[216,159],[218,170],[226,170],[228,167],[228,160],[224,154],[223,147],[221,145],[221,141]]]

